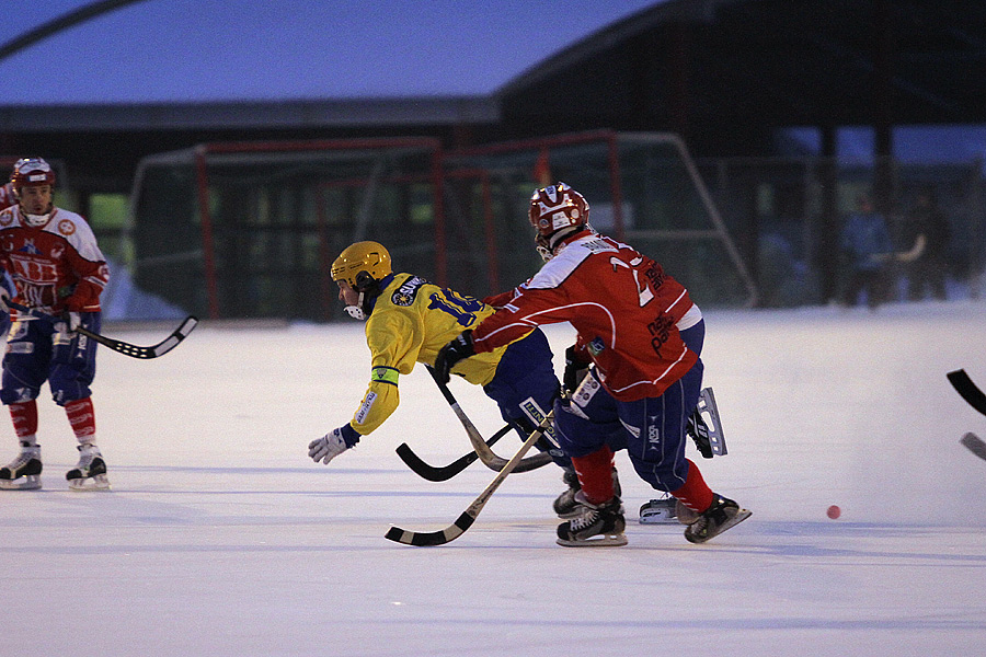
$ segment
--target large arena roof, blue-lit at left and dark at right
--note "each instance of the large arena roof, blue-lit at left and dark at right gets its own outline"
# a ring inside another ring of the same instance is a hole
[[[4,43],[87,5],[21,4]],[[89,4],[119,7],[0,59],[0,132],[495,124],[755,152],[777,127],[986,124],[982,0]]]

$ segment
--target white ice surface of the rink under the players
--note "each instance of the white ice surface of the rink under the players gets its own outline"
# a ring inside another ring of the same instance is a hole
[[[986,303],[706,315],[730,453],[689,456],[754,511],[706,545],[632,521],[653,492],[624,453],[626,548],[555,545],[553,466],[508,477],[448,545],[385,540],[391,523],[451,523],[494,473],[431,483],[394,454],[406,441],[444,465],[469,449],[422,369],[355,450],[308,459],[368,381],[355,322],[205,323],[151,361],[103,350],[113,491],[68,491],[74,440],[46,391],[45,487],[0,492],[0,655],[983,654],[986,462],[959,439],[986,437],[986,417],[945,372],[986,385]],[[548,333],[561,371],[571,327]],[[481,430],[500,428],[481,391],[452,390]]]

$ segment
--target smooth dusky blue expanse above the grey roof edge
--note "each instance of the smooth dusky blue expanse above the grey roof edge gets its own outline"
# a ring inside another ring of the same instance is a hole
[[[18,2],[0,43],[89,1]],[[0,105],[488,94],[655,0],[144,0],[0,61]]]

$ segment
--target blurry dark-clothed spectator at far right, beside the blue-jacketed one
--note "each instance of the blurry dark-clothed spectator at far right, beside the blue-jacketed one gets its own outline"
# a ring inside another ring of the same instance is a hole
[[[903,249],[910,250],[901,258],[907,274],[907,298],[920,301],[930,292],[932,298],[944,300],[950,230],[932,189],[918,193],[902,233]],[[922,250],[917,247],[921,241]]]

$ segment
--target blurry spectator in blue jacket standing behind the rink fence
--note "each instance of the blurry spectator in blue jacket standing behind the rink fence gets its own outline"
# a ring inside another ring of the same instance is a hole
[[[893,242],[883,215],[873,208],[869,196],[860,195],[858,209],[842,227],[840,247],[849,268],[842,301],[856,306],[865,292],[867,306],[876,308],[888,297],[887,262],[893,258]]]

